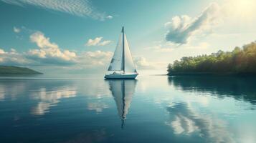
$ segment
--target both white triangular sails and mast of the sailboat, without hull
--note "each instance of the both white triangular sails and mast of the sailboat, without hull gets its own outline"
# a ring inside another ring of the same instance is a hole
[[[124,29],[122,29],[119,36],[118,44],[115,48],[115,53],[111,59],[108,71],[123,71],[124,73],[137,72]]]

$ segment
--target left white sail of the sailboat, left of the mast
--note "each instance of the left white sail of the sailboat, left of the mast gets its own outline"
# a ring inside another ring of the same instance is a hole
[[[123,62],[123,35],[120,34],[118,39],[118,44],[116,45],[116,48],[115,48],[115,53],[108,67],[108,71],[123,71],[122,62]]]

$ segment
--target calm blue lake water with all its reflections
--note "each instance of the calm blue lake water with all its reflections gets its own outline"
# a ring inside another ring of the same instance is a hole
[[[256,78],[0,77],[0,142],[256,142]]]

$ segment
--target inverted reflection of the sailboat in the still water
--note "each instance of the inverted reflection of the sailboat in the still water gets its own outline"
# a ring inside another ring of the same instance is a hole
[[[131,100],[135,92],[136,79],[114,79],[108,80],[110,91],[118,108],[118,115],[122,121],[121,128],[125,124],[126,114],[131,106]]]

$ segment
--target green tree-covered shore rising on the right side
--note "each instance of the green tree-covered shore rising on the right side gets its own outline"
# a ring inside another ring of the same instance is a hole
[[[168,66],[168,74],[256,74],[256,41],[233,51],[186,56]]]

